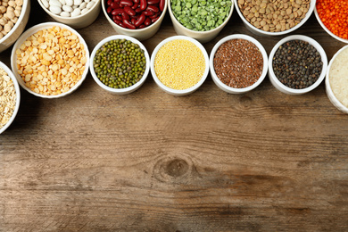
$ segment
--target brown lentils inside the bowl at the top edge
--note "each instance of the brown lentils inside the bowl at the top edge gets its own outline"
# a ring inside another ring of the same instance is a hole
[[[305,17],[311,0],[238,0],[245,20],[269,32],[291,29]]]

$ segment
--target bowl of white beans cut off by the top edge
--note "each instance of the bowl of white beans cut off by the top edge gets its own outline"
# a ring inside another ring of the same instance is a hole
[[[54,21],[62,22],[73,29],[86,28],[98,17],[100,0],[38,0],[44,11]]]

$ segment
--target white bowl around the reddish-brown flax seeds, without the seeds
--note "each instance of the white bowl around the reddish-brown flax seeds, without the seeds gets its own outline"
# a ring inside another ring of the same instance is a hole
[[[215,56],[215,53],[217,52],[217,50],[219,49],[219,47],[222,44],[224,44],[225,42],[232,40],[232,39],[237,39],[237,38],[245,39],[245,40],[252,42],[255,46],[257,46],[260,49],[262,57],[263,57],[263,69],[262,69],[261,77],[255,83],[253,83],[253,85],[250,87],[243,87],[243,88],[228,87],[218,78],[218,76],[216,75],[216,72],[214,70],[214,56]],[[238,95],[238,94],[247,93],[247,92],[253,90],[255,87],[258,87],[261,84],[263,79],[265,79],[267,71],[268,71],[269,59],[268,59],[268,55],[266,53],[266,50],[261,45],[261,43],[259,41],[257,41],[255,38],[247,36],[247,35],[235,34],[235,35],[231,35],[228,37],[223,37],[222,39],[220,39],[220,41],[215,46],[213,46],[213,48],[211,50],[209,64],[210,64],[210,70],[211,70],[211,78],[214,81],[214,83],[218,87],[220,87],[220,89],[222,89],[223,91],[225,91],[229,94]]]

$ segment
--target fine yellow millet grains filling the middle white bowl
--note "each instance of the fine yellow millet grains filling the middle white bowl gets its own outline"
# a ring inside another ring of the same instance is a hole
[[[154,58],[154,71],[163,85],[183,90],[195,86],[205,70],[203,52],[186,39],[175,39],[162,46]]]

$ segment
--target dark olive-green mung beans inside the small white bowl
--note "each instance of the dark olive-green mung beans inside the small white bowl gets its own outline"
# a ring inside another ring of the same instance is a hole
[[[145,72],[145,53],[127,39],[106,42],[95,53],[95,74],[104,85],[113,88],[136,84]]]

